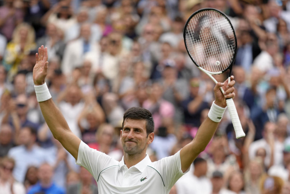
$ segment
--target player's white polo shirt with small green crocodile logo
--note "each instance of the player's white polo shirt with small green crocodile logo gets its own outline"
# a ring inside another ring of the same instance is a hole
[[[99,193],[168,194],[174,183],[185,174],[181,170],[179,152],[156,162],[151,162],[146,155],[142,161],[128,169],[124,156],[119,162],[81,141],[76,163],[93,175]]]

